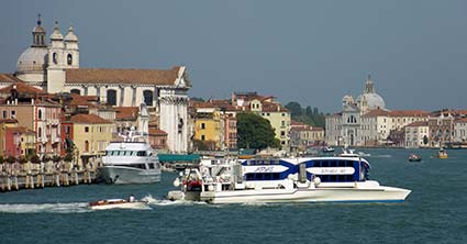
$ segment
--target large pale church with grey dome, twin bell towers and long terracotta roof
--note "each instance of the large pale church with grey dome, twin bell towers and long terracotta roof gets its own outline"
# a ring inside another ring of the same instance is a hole
[[[73,26],[64,36],[58,23],[46,42],[41,16],[33,29],[33,43],[19,57],[14,77],[48,93],[97,96],[115,107],[146,104],[149,115],[167,133],[167,147],[186,153],[189,144],[188,90],[185,66],[170,69],[80,68],[78,36]],[[0,88],[11,80],[0,80]]]

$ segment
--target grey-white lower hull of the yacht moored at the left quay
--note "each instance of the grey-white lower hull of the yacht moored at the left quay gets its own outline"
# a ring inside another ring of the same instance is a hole
[[[153,184],[160,181],[159,169],[103,166],[100,168],[100,173],[108,184]]]

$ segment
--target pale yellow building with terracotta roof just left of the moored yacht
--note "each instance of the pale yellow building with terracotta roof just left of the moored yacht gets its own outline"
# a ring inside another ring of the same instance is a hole
[[[73,141],[81,163],[87,164],[103,155],[112,140],[112,122],[96,114],[76,114],[70,121]]]

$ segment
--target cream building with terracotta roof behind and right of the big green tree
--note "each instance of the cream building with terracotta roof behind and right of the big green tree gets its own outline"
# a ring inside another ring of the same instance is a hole
[[[233,92],[231,103],[241,111],[251,111],[268,120],[282,149],[290,149],[290,112],[274,97],[257,92]]]

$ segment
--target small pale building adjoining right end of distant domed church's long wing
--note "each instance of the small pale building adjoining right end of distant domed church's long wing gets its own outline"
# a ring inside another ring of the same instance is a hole
[[[412,122],[404,127],[405,142],[404,146],[409,148],[426,147],[429,146],[429,122],[416,121]]]

